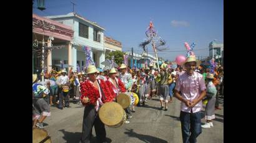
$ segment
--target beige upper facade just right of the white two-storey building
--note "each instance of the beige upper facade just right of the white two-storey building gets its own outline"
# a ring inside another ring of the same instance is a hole
[[[121,42],[114,40],[111,37],[104,36],[104,48],[105,54],[116,50],[122,51],[122,44]]]

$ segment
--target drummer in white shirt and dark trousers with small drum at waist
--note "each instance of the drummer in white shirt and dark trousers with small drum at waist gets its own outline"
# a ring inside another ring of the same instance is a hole
[[[59,109],[63,109],[63,98],[65,101],[65,107],[70,108],[69,106],[69,76],[66,75],[66,70],[61,70],[61,76],[56,80],[57,85],[59,86]]]

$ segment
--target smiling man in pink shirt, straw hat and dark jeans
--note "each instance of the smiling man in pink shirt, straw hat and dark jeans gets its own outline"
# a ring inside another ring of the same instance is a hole
[[[185,60],[186,72],[179,76],[174,92],[175,97],[182,101],[180,122],[184,143],[197,142],[197,136],[202,132],[200,111],[202,110],[202,99],[206,95],[206,87],[203,76],[195,72],[197,63],[194,56]]]

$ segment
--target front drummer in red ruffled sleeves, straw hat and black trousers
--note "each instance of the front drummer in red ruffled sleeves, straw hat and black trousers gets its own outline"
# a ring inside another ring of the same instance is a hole
[[[90,142],[93,126],[98,142],[106,142],[106,129],[99,118],[99,111],[104,103],[113,100],[114,95],[104,80],[97,79],[97,69],[94,65],[87,67],[87,75],[89,79],[81,83],[81,102],[85,108],[80,142]]]

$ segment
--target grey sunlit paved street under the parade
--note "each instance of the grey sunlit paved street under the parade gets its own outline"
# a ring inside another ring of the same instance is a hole
[[[179,121],[180,101],[174,99],[174,102],[169,104],[168,111],[159,109],[160,102],[156,97],[147,101],[145,107],[135,108],[130,124],[124,124],[119,128],[106,126],[109,142],[182,142]],[[199,143],[224,142],[222,101],[220,99],[222,110],[215,110],[214,127],[202,129],[202,134],[197,138]],[[64,108],[63,110],[51,106],[51,116],[46,119],[45,123],[52,142],[79,142],[83,114],[84,107],[78,104],[71,103],[71,108]],[[201,121],[204,123],[204,118]],[[96,142],[94,129],[92,135],[94,136],[92,142]]]

